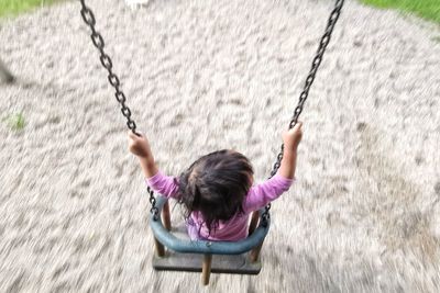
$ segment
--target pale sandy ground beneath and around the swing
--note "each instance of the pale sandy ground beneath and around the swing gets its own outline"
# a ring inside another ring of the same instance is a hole
[[[331,1],[90,0],[161,168],[234,148],[267,177]],[[258,277],[155,272],[124,119],[72,1],[0,24],[1,292],[439,292],[440,35],[349,1]],[[175,221],[179,209],[174,207]]]

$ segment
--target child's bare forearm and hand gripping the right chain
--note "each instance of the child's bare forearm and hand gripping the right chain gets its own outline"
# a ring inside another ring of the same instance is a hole
[[[284,178],[294,178],[296,169],[296,154],[302,137],[302,123],[298,122],[292,129],[283,134],[284,156],[278,173]]]

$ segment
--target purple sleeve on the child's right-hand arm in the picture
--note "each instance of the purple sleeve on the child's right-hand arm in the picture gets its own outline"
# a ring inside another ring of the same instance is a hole
[[[270,202],[278,199],[283,192],[290,188],[293,182],[294,179],[287,179],[280,174],[275,174],[267,181],[252,187],[243,203],[244,212],[257,211]]]

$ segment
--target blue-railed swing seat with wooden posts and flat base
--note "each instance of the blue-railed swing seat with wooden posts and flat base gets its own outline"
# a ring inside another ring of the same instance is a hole
[[[163,224],[163,210],[167,203],[164,196],[156,198],[156,207],[160,217],[154,219],[151,215],[150,226],[153,230],[156,246],[164,246],[163,252],[155,253],[153,257],[153,268],[155,270],[169,271],[191,271],[209,273],[238,273],[238,274],[258,274],[262,263],[257,258],[261,246],[270,229],[270,219],[260,224],[255,230],[245,239],[240,241],[209,241],[209,240],[190,240],[183,239],[176,234],[169,232]],[[260,217],[264,213],[264,209],[258,211]],[[248,253],[256,249],[256,256]],[[204,270],[207,258],[209,259],[209,268]],[[205,282],[207,283],[207,282]]]

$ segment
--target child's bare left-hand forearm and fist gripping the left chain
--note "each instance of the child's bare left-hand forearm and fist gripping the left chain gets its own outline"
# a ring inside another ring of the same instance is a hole
[[[145,178],[152,178],[157,173],[157,166],[154,161],[148,140],[144,136],[138,136],[129,132],[129,149],[138,156]]]

